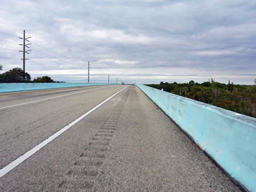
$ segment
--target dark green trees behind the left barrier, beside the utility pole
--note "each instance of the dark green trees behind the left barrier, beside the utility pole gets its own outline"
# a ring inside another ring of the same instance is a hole
[[[3,70],[3,66],[0,65],[0,70]],[[55,82],[49,76],[42,76],[34,78],[31,81],[31,76],[25,73],[21,68],[13,68],[5,73],[0,74],[0,83],[61,83]]]

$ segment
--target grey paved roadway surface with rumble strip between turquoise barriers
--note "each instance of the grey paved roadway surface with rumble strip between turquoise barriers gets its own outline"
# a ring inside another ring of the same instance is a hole
[[[0,94],[0,169],[126,86]],[[240,190],[135,85],[0,178],[0,191]]]

